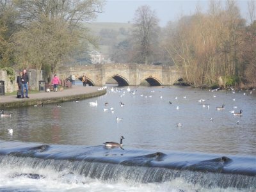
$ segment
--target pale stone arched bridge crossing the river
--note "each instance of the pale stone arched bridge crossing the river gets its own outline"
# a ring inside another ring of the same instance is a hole
[[[182,79],[175,66],[142,65],[142,64],[96,64],[83,67],[72,67],[60,70],[59,76],[65,79],[74,74],[82,80],[86,76],[87,84],[104,86],[115,79],[119,86],[140,85],[147,81],[150,86],[173,85]]]

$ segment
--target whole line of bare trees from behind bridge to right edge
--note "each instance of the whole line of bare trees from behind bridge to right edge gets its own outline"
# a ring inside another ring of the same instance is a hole
[[[248,1],[248,20],[236,1],[209,1],[207,13],[182,16],[159,28],[156,12],[141,6],[132,35],[114,46],[113,60],[167,63],[195,87],[256,87],[256,6]]]

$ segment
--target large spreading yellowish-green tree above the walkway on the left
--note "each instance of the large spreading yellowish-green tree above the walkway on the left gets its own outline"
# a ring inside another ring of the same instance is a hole
[[[95,19],[96,13],[102,12],[104,1],[20,0],[15,3],[23,26],[14,36],[22,67],[41,69],[50,65],[44,68],[51,68],[54,74],[77,49],[95,44],[95,38],[88,35],[81,22]]]

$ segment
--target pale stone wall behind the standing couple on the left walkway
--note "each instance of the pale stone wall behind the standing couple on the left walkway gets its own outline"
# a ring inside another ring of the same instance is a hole
[[[30,90],[39,90],[39,81],[47,82],[47,77],[45,77],[45,73],[43,70],[35,70],[28,69],[27,70],[29,76],[29,89]],[[19,72],[16,72],[16,77],[19,75]],[[7,76],[7,72],[5,70],[0,70],[0,81],[4,81],[4,92],[12,93],[17,92],[18,86],[15,81],[11,82]]]

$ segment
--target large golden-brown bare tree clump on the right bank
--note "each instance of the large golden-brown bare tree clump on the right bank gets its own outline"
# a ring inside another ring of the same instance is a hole
[[[213,86],[220,77],[239,83],[243,76],[245,22],[236,1],[226,5],[223,9],[220,1],[210,1],[208,13],[182,17],[164,40],[164,49],[193,86]]]

